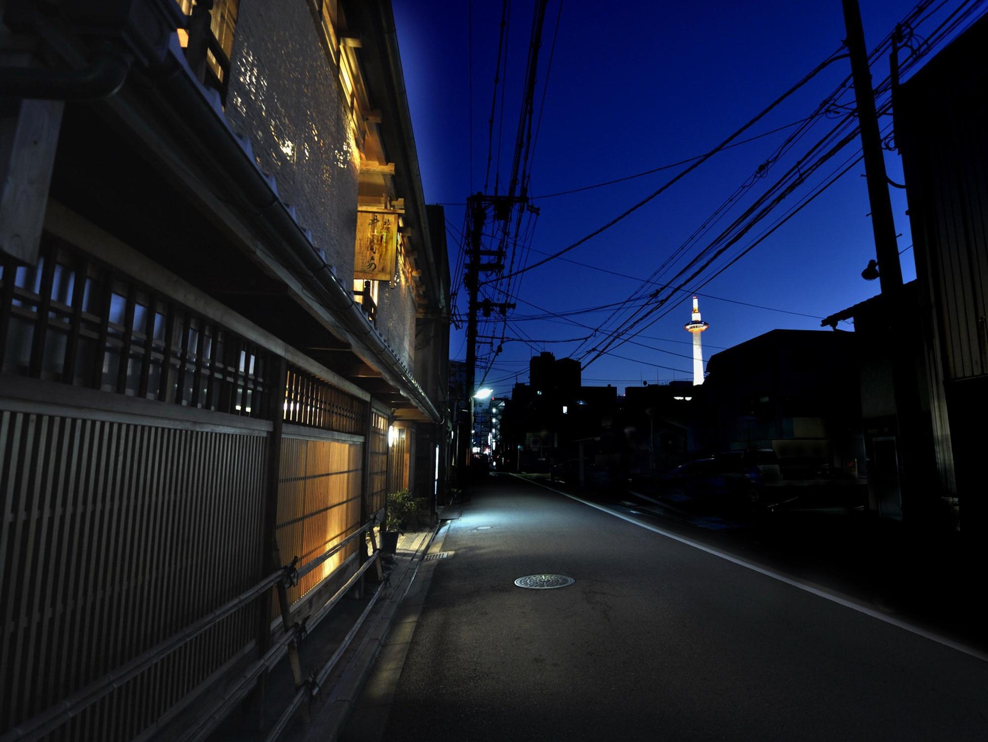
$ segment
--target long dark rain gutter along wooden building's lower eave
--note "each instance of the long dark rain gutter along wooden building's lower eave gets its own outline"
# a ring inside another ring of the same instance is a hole
[[[258,213],[271,233],[278,238],[274,240],[274,245],[281,245],[283,240],[288,243],[287,250],[279,251],[280,257],[307,277],[308,287],[342,316],[344,327],[362,338],[375,360],[412,391],[412,401],[433,422],[441,420],[442,415],[411,371],[399,363],[383,339],[374,332],[351,292],[340,284],[330,272],[329,266],[316,253],[312,243],[278,198],[272,184],[247,156],[222,114],[209,106],[199,83],[192,77],[184,62],[181,49],[176,51],[173,45],[165,63],[152,70],[157,86],[168,103],[175,110],[184,112],[186,119],[193,124],[203,147],[219,160],[230,174],[231,181],[237,184],[238,195],[244,206]]]

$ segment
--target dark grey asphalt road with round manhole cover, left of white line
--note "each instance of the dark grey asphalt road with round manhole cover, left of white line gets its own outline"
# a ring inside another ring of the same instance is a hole
[[[988,739],[988,662],[538,485],[443,548],[384,739]]]

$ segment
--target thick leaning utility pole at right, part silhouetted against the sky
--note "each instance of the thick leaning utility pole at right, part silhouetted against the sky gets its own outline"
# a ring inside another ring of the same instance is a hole
[[[892,202],[888,197],[888,176],[885,174],[885,157],[881,151],[878,116],[874,110],[874,90],[871,88],[867,47],[864,45],[861,8],[858,0],[841,2],[844,6],[844,24],[848,31],[846,43],[851,55],[851,72],[855,82],[858,124],[862,130],[864,176],[867,181],[868,202],[871,205],[871,229],[874,231],[878,280],[882,293],[894,293],[902,286],[902,269],[895,241]]]

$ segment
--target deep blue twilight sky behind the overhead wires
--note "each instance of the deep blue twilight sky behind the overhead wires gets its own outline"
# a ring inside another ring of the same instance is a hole
[[[948,0],[945,10],[956,7],[958,2]],[[868,47],[890,32],[914,5],[910,0],[862,0]],[[429,203],[461,204],[468,193],[482,186],[501,3],[474,0],[472,6],[471,130],[467,0],[394,0],[405,81]],[[536,106],[541,84],[545,82],[545,64],[558,8],[559,0],[550,0]],[[532,0],[513,0],[502,172],[510,170],[532,15]],[[918,31],[929,33],[941,17],[934,17],[929,27]],[[553,193],[620,178],[707,151],[836,50],[844,36],[840,0],[676,4],[563,0],[536,143],[531,193]],[[849,71],[846,59],[834,63],[745,135],[806,117]],[[874,79],[883,78],[887,72],[888,60],[883,56],[873,67]],[[852,100],[851,94],[844,100]],[[889,121],[885,118],[882,123]],[[817,124],[820,133],[829,124],[832,122],[828,120]],[[781,131],[714,156],[647,206],[565,257],[645,278],[750,176],[785,133]],[[495,126],[495,153],[496,135]],[[810,135],[803,141],[808,144],[816,138]],[[850,155],[855,146],[857,142],[844,156]],[[840,160],[835,159],[834,165]],[[887,153],[886,162],[890,178],[901,182],[898,155]],[[530,262],[543,257],[535,250],[554,252],[570,244],[654,191],[675,172],[660,172],[576,195],[536,200],[541,213]],[[877,293],[877,282],[865,282],[861,278],[861,271],[874,255],[862,173],[864,166],[857,166],[768,240],[701,289],[702,293],[821,317]],[[903,233],[899,238],[902,249],[912,243],[905,214],[907,206],[904,192],[897,189],[891,192],[897,231]],[[799,192],[785,205],[794,203],[798,196]],[[447,206],[447,216],[460,228],[463,207]],[[449,239],[454,266],[459,243],[453,230],[449,231]],[[902,271],[907,281],[915,277],[912,255],[911,250],[902,255]],[[623,299],[637,286],[636,281],[552,261],[525,276],[520,298],[552,311],[563,311]],[[465,313],[463,294],[460,291],[459,301]],[[689,294],[683,293],[679,306],[645,331],[649,339],[639,337],[638,341],[689,355],[690,336],[683,329],[690,318],[689,300]],[[774,328],[819,329],[818,319],[715,298],[702,297],[700,309],[703,319],[710,323],[710,329],[703,335],[707,358],[715,352],[715,346],[729,347]],[[538,312],[520,302],[515,313]],[[606,316],[589,314],[574,319],[593,325],[595,320]],[[586,330],[558,320],[519,324],[535,339],[587,334]],[[465,356],[463,334],[453,330],[454,359]],[[517,333],[509,329],[508,336],[517,337]],[[576,345],[546,344],[544,349],[562,357]],[[527,361],[535,353],[519,342],[506,343],[504,348],[487,377],[487,385],[492,380],[504,379],[493,384],[499,394],[510,390],[515,371],[519,372],[520,380],[527,379]],[[692,369],[687,358],[638,346],[624,345],[616,352],[682,371]],[[624,386],[640,383],[642,378],[672,377],[685,378],[689,373],[655,369],[612,357],[604,357],[584,371],[585,383],[611,382],[621,393]]]

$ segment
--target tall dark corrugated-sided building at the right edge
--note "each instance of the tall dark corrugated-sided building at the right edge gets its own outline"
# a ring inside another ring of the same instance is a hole
[[[918,285],[931,477],[954,526],[988,531],[988,19],[894,91]],[[957,518],[959,517],[959,520]],[[980,535],[980,536],[979,536]]]

